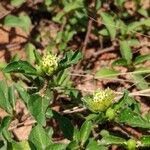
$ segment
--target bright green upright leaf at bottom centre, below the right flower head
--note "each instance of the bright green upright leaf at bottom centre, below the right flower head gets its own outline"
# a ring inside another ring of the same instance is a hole
[[[82,146],[88,140],[91,131],[92,131],[92,122],[91,121],[85,121],[82,124],[81,129],[80,129],[80,141],[81,141]]]

